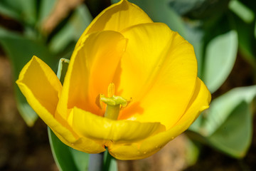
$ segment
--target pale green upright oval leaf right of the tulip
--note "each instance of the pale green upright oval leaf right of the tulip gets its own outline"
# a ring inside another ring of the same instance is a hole
[[[206,46],[203,81],[214,93],[228,78],[238,52],[238,34],[228,31],[213,38]]]

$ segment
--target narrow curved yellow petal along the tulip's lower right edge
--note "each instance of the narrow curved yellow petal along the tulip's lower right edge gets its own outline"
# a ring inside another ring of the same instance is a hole
[[[108,147],[110,154],[119,160],[138,160],[149,157],[161,150],[161,147],[164,147],[166,143],[183,133],[198,117],[201,111],[209,107],[210,93],[199,78],[197,78],[196,91],[191,100],[193,100],[193,102],[191,101],[186,113],[173,128],[151,136],[140,143],[124,145],[112,144]]]

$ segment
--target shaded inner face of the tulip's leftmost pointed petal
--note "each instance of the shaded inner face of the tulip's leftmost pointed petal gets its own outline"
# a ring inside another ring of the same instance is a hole
[[[33,56],[31,61],[23,67],[16,83],[28,101],[33,102],[24,89],[29,89],[43,108],[54,115],[58,103],[58,93],[62,86],[55,73],[46,63]],[[32,106],[33,103],[30,105]]]

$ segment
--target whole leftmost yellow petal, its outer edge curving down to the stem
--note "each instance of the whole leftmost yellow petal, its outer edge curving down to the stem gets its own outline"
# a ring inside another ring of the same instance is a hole
[[[61,83],[55,73],[40,58],[33,56],[23,67],[16,81],[29,105],[36,111],[40,118],[53,130],[55,135],[66,145],[80,150],[94,149],[94,152],[104,151],[102,145],[92,140],[85,140],[76,135],[72,128],[67,128],[65,121],[59,122],[54,118],[55,108],[58,103],[58,94],[62,89]],[[85,138],[82,138],[85,139]],[[84,142],[83,145],[80,145]]]

